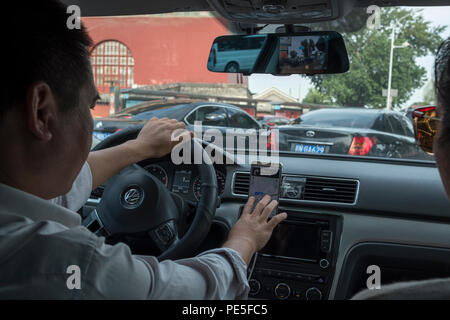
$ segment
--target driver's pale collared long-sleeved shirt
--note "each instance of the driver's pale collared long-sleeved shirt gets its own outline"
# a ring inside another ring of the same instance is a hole
[[[91,186],[86,186],[88,191]],[[77,188],[74,184],[71,195],[86,192]],[[0,184],[1,299],[247,297],[246,264],[237,251],[213,249],[162,262],[132,255],[125,244],[105,244],[103,237],[80,225],[78,214],[55,204],[64,201],[76,208],[79,200],[43,200]]]

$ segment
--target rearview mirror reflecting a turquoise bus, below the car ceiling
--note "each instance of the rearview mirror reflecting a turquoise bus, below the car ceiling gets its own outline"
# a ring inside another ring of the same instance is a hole
[[[342,36],[333,31],[221,36],[208,70],[226,73],[331,74],[349,69]]]

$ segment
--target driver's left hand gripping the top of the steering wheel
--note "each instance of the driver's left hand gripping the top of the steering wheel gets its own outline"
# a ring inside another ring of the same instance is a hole
[[[186,130],[186,125],[175,119],[156,117],[151,118],[139,132],[134,145],[137,151],[145,158],[160,158],[168,154],[179,141],[172,141],[172,133],[181,135],[185,130],[188,138],[192,132]]]

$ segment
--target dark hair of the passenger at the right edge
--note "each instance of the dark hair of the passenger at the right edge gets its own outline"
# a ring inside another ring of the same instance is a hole
[[[441,43],[434,64],[437,104],[442,108],[442,142],[450,143],[450,38]]]

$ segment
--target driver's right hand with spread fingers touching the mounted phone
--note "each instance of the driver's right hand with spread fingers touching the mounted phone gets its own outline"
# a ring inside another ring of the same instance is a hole
[[[258,202],[252,212],[254,202],[254,197],[248,199],[241,217],[231,229],[228,240],[223,245],[238,251],[247,265],[255,252],[261,250],[269,241],[273,229],[287,218],[287,213],[282,212],[269,220],[270,213],[277,207],[278,202],[271,201],[268,195]]]

